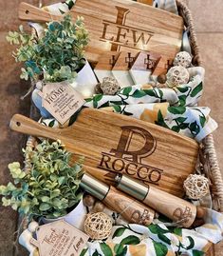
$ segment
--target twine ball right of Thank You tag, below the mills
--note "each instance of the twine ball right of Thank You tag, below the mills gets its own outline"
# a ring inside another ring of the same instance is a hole
[[[94,240],[108,238],[112,231],[112,220],[103,212],[89,213],[84,221],[84,231]]]

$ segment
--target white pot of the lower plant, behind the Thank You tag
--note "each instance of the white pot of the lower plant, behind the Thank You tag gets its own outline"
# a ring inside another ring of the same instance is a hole
[[[71,210],[68,214],[57,219],[42,218],[44,224],[52,223],[58,220],[65,220],[68,224],[84,230],[84,220],[86,218],[86,207],[84,207],[83,200],[80,201],[77,207]]]

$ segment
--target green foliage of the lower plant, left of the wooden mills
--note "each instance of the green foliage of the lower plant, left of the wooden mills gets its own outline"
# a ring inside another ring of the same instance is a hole
[[[24,150],[24,155],[30,160],[30,171],[26,173],[17,162],[9,164],[14,184],[0,186],[3,206],[28,215],[57,218],[80,202],[82,164],[71,167],[70,153],[60,142],[44,141],[35,149]]]

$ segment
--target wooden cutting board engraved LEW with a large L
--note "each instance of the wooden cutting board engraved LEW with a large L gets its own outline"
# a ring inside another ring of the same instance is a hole
[[[154,51],[173,59],[181,47],[182,17],[149,5],[130,0],[77,0],[70,14],[73,19],[84,17],[90,61],[97,62],[104,51],[129,49]],[[46,22],[62,16],[21,3],[19,18]]]

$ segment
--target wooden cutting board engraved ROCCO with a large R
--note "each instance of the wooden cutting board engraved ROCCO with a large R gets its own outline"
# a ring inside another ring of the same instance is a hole
[[[84,108],[76,122],[63,129],[16,114],[10,128],[60,139],[74,157],[85,157],[84,166],[93,175],[94,171],[126,173],[177,196],[182,196],[183,181],[195,171],[198,144],[194,140],[117,113]]]

